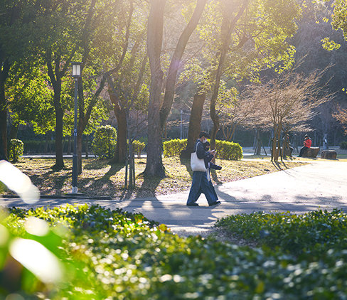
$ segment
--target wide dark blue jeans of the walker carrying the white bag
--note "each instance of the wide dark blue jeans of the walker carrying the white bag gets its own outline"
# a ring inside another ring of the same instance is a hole
[[[212,183],[207,180],[206,172],[193,172],[193,182],[191,183],[191,191],[188,195],[187,204],[195,203],[201,195],[201,192],[205,194],[208,204],[215,202],[218,198],[216,198],[217,195],[213,193],[211,186]]]

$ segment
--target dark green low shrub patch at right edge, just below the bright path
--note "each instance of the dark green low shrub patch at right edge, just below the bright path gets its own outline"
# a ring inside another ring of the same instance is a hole
[[[321,257],[347,247],[347,215],[342,210],[317,210],[304,215],[257,212],[230,215],[216,223],[233,235],[293,255]]]

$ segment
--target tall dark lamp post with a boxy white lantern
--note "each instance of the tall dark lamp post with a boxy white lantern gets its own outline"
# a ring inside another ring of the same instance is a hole
[[[75,79],[75,118],[73,127],[73,194],[78,193],[77,188],[77,92],[78,78],[81,77],[82,63],[71,63],[73,65],[73,78]]]

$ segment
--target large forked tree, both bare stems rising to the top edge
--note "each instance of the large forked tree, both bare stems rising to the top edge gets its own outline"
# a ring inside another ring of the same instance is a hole
[[[176,76],[188,39],[198,25],[205,7],[205,0],[197,0],[196,7],[186,27],[178,38],[166,77],[164,100],[161,104],[161,90],[164,73],[161,69],[161,45],[163,42],[164,8],[166,1],[151,0],[147,30],[147,52],[151,70],[149,89],[149,134],[147,161],[144,173],[149,176],[164,177],[165,171],[161,159],[161,132],[169,115],[173,102]]]

